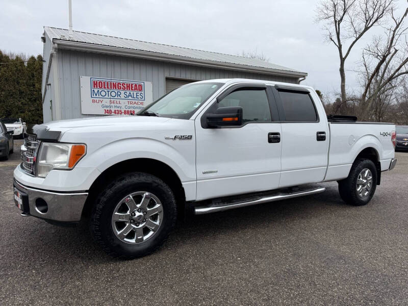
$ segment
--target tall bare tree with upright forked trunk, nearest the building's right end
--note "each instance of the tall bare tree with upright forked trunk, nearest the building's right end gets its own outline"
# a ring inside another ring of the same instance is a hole
[[[345,62],[364,34],[388,16],[394,0],[323,0],[317,8],[316,21],[324,22],[325,36],[333,43],[340,58],[340,111],[347,103]]]

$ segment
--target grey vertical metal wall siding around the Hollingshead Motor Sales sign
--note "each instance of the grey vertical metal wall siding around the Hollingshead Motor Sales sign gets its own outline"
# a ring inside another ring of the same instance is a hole
[[[81,75],[153,82],[153,100],[165,94],[166,77],[189,80],[244,78],[287,83],[297,83],[298,81],[297,78],[279,77],[276,75],[181,65],[163,61],[85,53],[65,49],[58,50],[57,61],[61,118],[54,116],[54,120],[96,116],[81,114]],[[50,80],[52,79],[50,78]],[[51,87],[54,87],[54,84]],[[44,107],[46,107],[45,100]],[[54,101],[53,107],[56,109]],[[48,114],[49,112],[46,114],[44,110],[44,122],[51,120]]]

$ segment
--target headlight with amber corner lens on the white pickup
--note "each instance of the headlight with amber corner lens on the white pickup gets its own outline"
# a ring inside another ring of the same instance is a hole
[[[85,144],[44,142],[37,157],[37,175],[45,177],[53,169],[72,169],[85,154]]]

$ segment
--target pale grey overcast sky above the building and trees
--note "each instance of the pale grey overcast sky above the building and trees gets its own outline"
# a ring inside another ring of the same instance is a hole
[[[339,91],[336,47],[324,41],[322,24],[316,24],[315,0],[264,1],[119,1],[72,0],[76,31],[106,34],[149,42],[237,55],[258,50],[271,63],[309,73],[302,84],[323,93]],[[400,9],[405,0],[398,2]],[[68,28],[68,1],[2,1],[0,49],[42,54],[43,26]],[[356,45],[346,68],[353,70],[360,48]],[[358,88],[355,73],[347,84]]]

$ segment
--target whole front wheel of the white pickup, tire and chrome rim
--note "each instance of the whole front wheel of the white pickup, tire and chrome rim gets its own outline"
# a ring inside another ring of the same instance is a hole
[[[118,177],[96,200],[91,232],[114,257],[131,259],[158,249],[176,221],[170,187],[158,177],[134,172]]]

